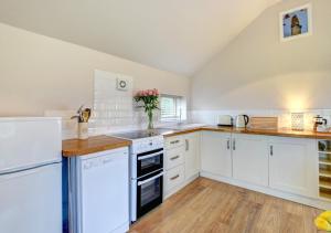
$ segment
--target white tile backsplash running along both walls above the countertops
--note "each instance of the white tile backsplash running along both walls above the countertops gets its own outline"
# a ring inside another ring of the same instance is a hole
[[[127,81],[127,91],[117,89],[117,78],[119,77]],[[134,77],[105,71],[95,71],[94,106],[92,107],[92,118],[88,126],[90,136],[147,128],[147,115],[143,108],[138,108],[137,103],[134,100],[132,91]],[[329,126],[331,126],[331,109],[309,109],[303,113],[306,129],[312,129],[312,118],[316,115],[325,117]],[[235,117],[239,114],[247,114],[248,116],[277,116],[279,127],[291,127],[291,113],[285,109],[192,110],[188,112],[188,121],[216,125],[218,115]],[[73,115],[76,115],[75,109],[45,112],[45,116],[62,117],[63,139],[77,137],[77,121],[76,119],[71,119]],[[154,112],[156,127],[173,124],[161,123],[159,112]]]

